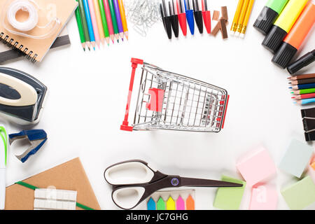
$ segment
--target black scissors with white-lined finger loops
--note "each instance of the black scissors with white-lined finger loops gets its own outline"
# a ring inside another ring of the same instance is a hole
[[[120,209],[134,209],[157,190],[180,187],[231,188],[242,187],[239,183],[193,179],[162,174],[147,162],[128,160],[111,165],[104,172],[107,183],[113,186],[111,197]]]

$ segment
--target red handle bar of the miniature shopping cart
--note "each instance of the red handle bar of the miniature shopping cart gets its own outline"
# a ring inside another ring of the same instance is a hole
[[[128,131],[128,132],[132,132],[133,130],[133,127],[129,126],[128,117],[129,117],[130,102],[131,102],[131,97],[132,97],[132,89],[134,87],[134,75],[136,73],[138,64],[144,64],[144,60],[132,57],[131,62],[132,62],[132,76],[130,78],[130,86],[129,86],[129,92],[128,92],[125,119],[123,120],[123,125],[120,125],[120,130]]]

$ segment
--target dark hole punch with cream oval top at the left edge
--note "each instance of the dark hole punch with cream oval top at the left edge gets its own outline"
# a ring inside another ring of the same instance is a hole
[[[0,66],[0,115],[19,125],[41,117],[47,87],[29,74]]]

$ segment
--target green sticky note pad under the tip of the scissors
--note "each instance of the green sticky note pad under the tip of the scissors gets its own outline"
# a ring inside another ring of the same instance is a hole
[[[216,198],[214,199],[214,207],[225,210],[238,210],[244,195],[246,182],[224,175],[221,179],[222,181],[241,183],[243,186],[240,188],[218,188]]]

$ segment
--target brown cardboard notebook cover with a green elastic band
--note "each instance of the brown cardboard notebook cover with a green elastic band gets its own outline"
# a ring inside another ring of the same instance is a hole
[[[23,182],[38,188],[55,186],[57,190],[76,190],[76,202],[91,209],[100,210],[90,181],[87,179],[79,158],[65,162],[62,165],[48,169],[45,172],[31,176]],[[6,210],[33,210],[34,190],[13,184],[6,188]],[[77,210],[80,208],[76,207]]]

